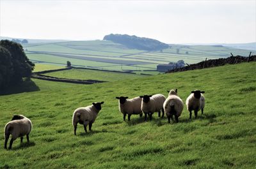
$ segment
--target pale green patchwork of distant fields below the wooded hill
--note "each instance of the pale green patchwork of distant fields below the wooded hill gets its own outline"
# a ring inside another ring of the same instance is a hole
[[[248,56],[250,50],[218,45],[171,45],[162,51],[148,52],[124,47],[112,41],[66,41],[59,43],[24,44],[29,59],[45,64],[62,64],[70,61],[73,66],[100,70],[156,70],[157,64],[168,64],[184,60],[193,64],[207,59],[218,59],[233,55]],[[179,51],[177,51],[179,50]],[[255,55],[256,51],[252,51]],[[147,66],[150,65],[150,66]]]

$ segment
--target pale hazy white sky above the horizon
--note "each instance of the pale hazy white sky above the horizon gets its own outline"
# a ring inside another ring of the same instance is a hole
[[[0,0],[0,36],[102,40],[110,33],[165,43],[256,41],[253,1]]]

